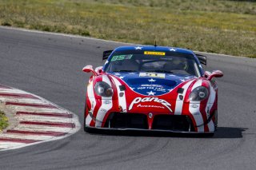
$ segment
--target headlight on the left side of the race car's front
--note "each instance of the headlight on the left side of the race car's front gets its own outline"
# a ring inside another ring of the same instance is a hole
[[[98,81],[94,86],[95,92],[101,97],[112,97],[113,89],[104,81]]]

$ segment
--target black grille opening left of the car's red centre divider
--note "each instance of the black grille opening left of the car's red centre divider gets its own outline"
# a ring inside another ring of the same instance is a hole
[[[140,113],[110,113],[104,127],[147,129],[147,117]]]

